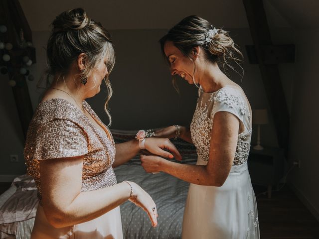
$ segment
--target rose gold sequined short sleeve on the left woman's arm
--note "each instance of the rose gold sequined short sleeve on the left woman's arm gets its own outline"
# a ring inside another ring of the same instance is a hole
[[[76,157],[88,153],[87,135],[76,123],[54,119],[39,128],[34,159]]]

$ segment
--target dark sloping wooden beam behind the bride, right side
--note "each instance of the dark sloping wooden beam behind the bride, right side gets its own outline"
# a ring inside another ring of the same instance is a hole
[[[277,64],[265,64],[265,45],[272,45],[263,0],[243,0],[257,60],[272,112],[279,146],[289,146],[290,117]],[[254,117],[254,116],[253,116]]]

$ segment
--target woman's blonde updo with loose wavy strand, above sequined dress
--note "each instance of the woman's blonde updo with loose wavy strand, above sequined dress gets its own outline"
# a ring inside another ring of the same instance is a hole
[[[115,52],[109,32],[91,19],[82,8],[74,8],[60,13],[52,22],[52,32],[47,43],[47,79],[56,74],[65,76],[81,53],[86,56],[86,65],[80,80],[87,78],[104,58],[107,59],[108,73],[104,79],[108,97],[104,110],[112,122],[108,103],[112,96],[109,75],[115,64]]]

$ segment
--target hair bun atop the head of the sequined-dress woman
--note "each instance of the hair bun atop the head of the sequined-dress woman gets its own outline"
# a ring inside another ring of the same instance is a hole
[[[58,15],[52,22],[53,32],[80,30],[87,26],[91,19],[82,8],[73,8]]]

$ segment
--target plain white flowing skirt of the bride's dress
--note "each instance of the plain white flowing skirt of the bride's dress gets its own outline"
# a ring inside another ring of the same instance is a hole
[[[207,162],[198,157],[197,164]],[[221,187],[190,184],[182,239],[260,239],[247,163],[233,166]]]

